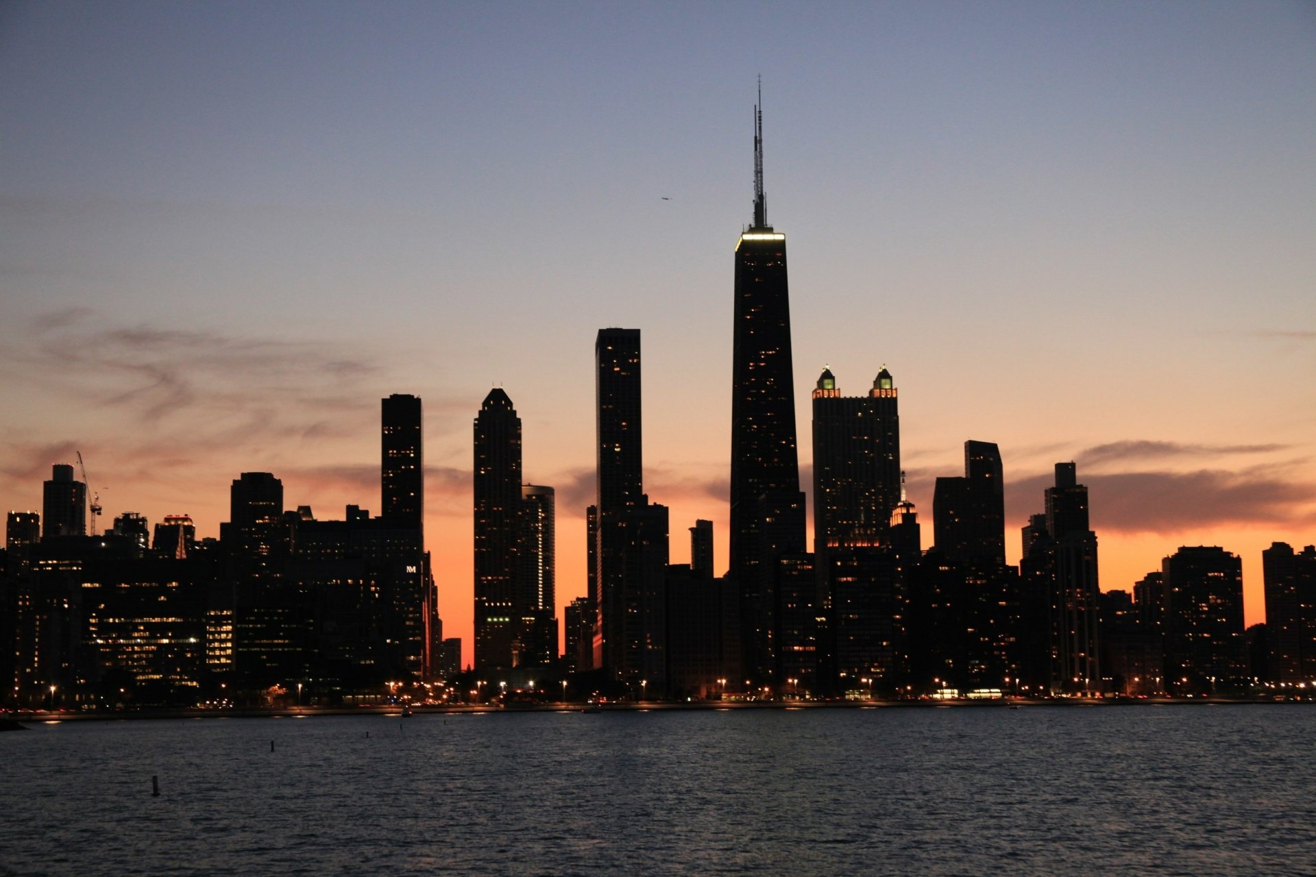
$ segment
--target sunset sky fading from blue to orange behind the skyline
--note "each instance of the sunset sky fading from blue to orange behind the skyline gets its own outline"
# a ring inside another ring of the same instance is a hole
[[[900,392],[909,494],[1000,444],[1008,559],[1058,460],[1103,589],[1316,542],[1316,4],[0,7],[0,506],[87,460],[218,535],[243,471],[379,509],[425,404],[471,656],[471,421],[503,387],[584,593],[595,333],[642,330],[645,486],[726,565],[733,247],[763,76],[797,430]],[[670,200],[665,200],[670,199]]]

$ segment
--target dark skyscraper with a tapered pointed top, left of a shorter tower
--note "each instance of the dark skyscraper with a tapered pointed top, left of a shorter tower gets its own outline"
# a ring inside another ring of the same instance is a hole
[[[521,563],[521,418],[491,389],[475,418],[475,667],[512,667]]]

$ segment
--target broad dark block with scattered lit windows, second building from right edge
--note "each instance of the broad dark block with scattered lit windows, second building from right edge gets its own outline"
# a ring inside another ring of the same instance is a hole
[[[1220,547],[1180,547],[1161,564],[1166,690],[1208,693],[1245,676],[1242,561]]]

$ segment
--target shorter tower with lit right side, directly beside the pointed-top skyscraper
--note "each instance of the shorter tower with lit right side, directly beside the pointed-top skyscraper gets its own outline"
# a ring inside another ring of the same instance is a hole
[[[557,560],[553,488],[521,485],[521,575],[516,613],[521,632],[516,665],[546,665],[558,656]]]

